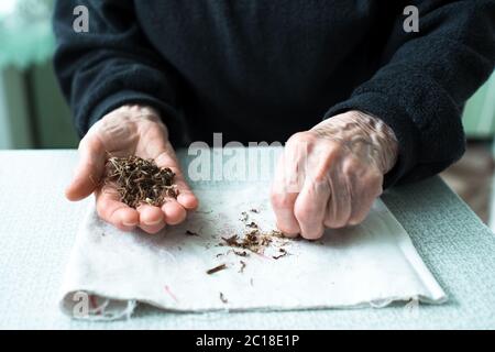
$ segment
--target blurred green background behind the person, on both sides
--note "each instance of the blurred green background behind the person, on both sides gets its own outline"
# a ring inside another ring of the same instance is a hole
[[[0,150],[77,147],[52,68],[53,3],[0,0]],[[468,153],[441,176],[495,229],[495,75],[468,101],[463,123]]]

